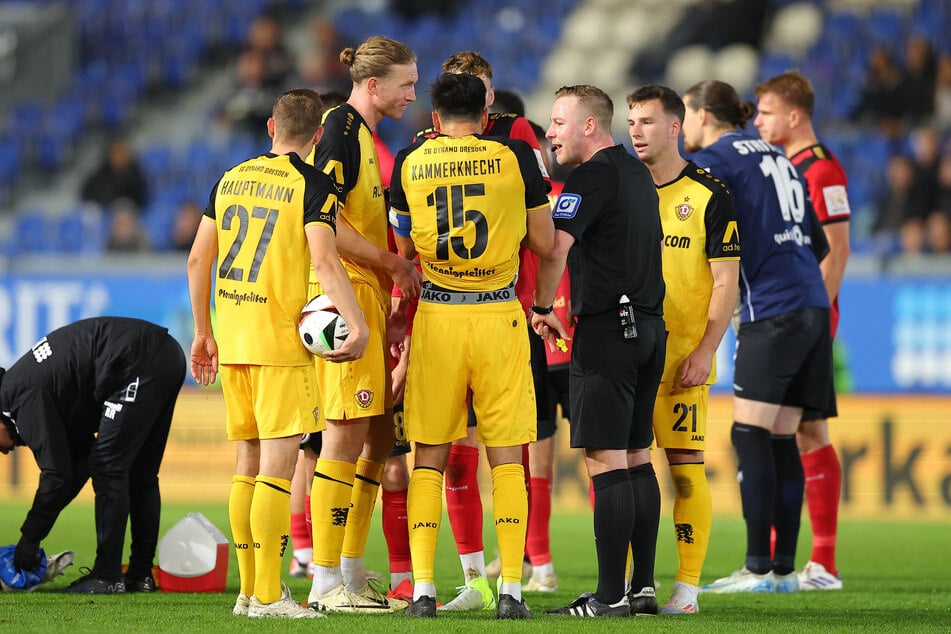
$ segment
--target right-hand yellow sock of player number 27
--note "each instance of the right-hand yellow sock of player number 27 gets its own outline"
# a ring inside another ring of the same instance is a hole
[[[281,567],[291,532],[291,481],[259,475],[251,500],[254,536],[254,596],[261,603],[281,598]]]

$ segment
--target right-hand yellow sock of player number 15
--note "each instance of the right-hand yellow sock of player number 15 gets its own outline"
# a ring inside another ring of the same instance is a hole
[[[522,465],[502,464],[492,469],[492,512],[502,561],[502,581],[521,583],[528,524],[528,491]]]

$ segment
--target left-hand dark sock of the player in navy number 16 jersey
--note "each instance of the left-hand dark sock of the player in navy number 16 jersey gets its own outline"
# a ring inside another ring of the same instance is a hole
[[[765,574],[772,568],[769,535],[776,487],[770,433],[762,427],[734,422],[730,439],[736,450],[746,520],[746,567],[756,574]]]

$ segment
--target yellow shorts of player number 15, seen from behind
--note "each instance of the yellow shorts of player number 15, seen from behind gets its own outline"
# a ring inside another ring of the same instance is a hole
[[[488,447],[535,440],[528,328],[518,302],[420,302],[406,377],[406,436],[439,445],[465,438],[471,395]]]

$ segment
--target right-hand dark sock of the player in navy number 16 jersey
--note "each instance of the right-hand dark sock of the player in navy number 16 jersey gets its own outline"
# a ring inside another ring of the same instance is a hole
[[[773,572],[788,575],[796,569],[796,541],[799,539],[806,481],[795,434],[773,436],[771,444],[776,464],[776,498],[773,502],[776,552],[773,555]]]

